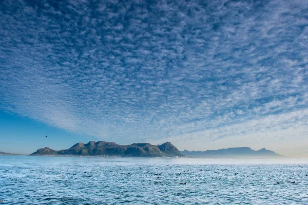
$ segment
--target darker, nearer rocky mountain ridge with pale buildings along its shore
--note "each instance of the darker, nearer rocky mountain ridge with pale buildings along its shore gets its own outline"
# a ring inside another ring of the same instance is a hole
[[[150,143],[133,143],[119,145],[114,142],[90,141],[76,143],[67,150],[55,151],[49,147],[38,149],[31,155],[104,155],[104,156],[134,156],[134,157],[182,157],[183,155],[170,142],[161,145]]]

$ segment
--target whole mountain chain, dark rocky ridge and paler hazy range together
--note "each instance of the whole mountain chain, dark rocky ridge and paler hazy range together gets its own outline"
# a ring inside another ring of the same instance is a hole
[[[118,156],[118,157],[191,157],[191,158],[281,158],[273,151],[262,148],[255,151],[249,147],[234,147],[207,151],[179,151],[170,142],[159,145],[150,143],[133,143],[120,145],[114,142],[90,141],[76,143],[67,150],[52,150],[49,147],[40,148],[31,155],[39,156]]]

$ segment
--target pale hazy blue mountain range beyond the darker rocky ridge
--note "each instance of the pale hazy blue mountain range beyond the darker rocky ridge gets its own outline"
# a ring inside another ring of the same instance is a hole
[[[220,150],[207,150],[207,151],[187,151],[181,152],[185,156],[194,158],[281,158],[273,151],[262,148],[255,151],[250,147],[233,147]]]

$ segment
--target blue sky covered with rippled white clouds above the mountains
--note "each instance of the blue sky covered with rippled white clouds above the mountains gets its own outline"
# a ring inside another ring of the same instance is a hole
[[[308,1],[1,1],[0,151],[90,140],[308,157]]]

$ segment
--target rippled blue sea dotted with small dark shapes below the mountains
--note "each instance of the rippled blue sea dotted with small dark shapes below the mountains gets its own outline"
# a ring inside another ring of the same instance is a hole
[[[0,204],[308,204],[306,175],[307,159],[0,156]]]

